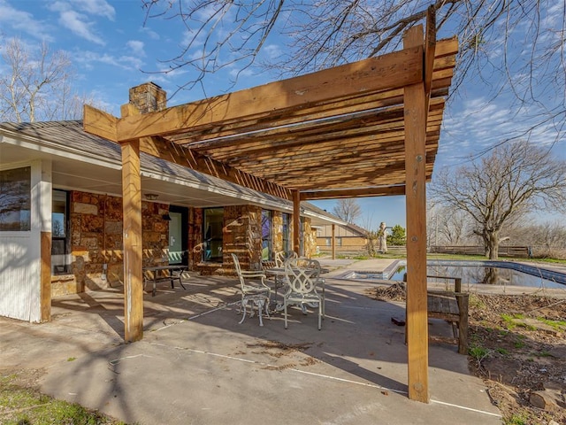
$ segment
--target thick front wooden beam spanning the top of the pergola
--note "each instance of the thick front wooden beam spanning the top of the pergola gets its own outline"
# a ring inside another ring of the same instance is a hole
[[[211,97],[160,112],[119,120],[118,140],[153,135],[175,135],[187,129],[224,125],[241,120],[272,117],[313,104],[335,102],[340,97],[402,88],[423,78],[423,46],[396,51],[379,58],[335,66],[252,89]]]

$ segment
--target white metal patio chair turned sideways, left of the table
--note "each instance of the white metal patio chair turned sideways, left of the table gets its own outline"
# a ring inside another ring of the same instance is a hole
[[[243,308],[240,324],[246,319],[247,305],[250,305],[249,317],[254,315],[254,305],[256,305],[259,326],[264,326],[262,310],[265,309],[265,314],[269,318],[269,299],[272,291],[264,282],[265,274],[260,270],[242,270],[238,257],[232,254],[232,258],[233,266],[240,279],[241,308]]]

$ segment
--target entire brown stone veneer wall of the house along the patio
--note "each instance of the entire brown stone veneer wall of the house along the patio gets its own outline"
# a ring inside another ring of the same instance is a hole
[[[80,191],[71,192],[71,252],[72,272],[51,276],[51,296],[107,288],[122,283],[122,198]],[[169,221],[162,215],[169,205],[142,202],[143,267],[167,262]],[[255,205],[224,207],[223,264],[203,262],[203,209],[189,209],[188,252],[191,269],[201,274],[234,274],[235,253],[244,269],[261,269],[262,208]],[[290,232],[293,235],[292,223]],[[304,255],[316,253],[316,233],[310,219],[304,221]],[[273,251],[283,249],[283,216],[273,212]],[[292,237],[292,236],[291,236]],[[103,279],[103,265],[106,278]]]

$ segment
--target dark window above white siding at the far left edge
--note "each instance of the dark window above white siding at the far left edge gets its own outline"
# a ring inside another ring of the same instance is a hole
[[[0,231],[31,230],[31,167],[0,171]]]

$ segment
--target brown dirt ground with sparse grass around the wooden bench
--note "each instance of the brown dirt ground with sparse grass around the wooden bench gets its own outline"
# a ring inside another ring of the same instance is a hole
[[[402,284],[368,292],[404,301]],[[509,425],[566,424],[566,299],[470,295],[470,373]]]

